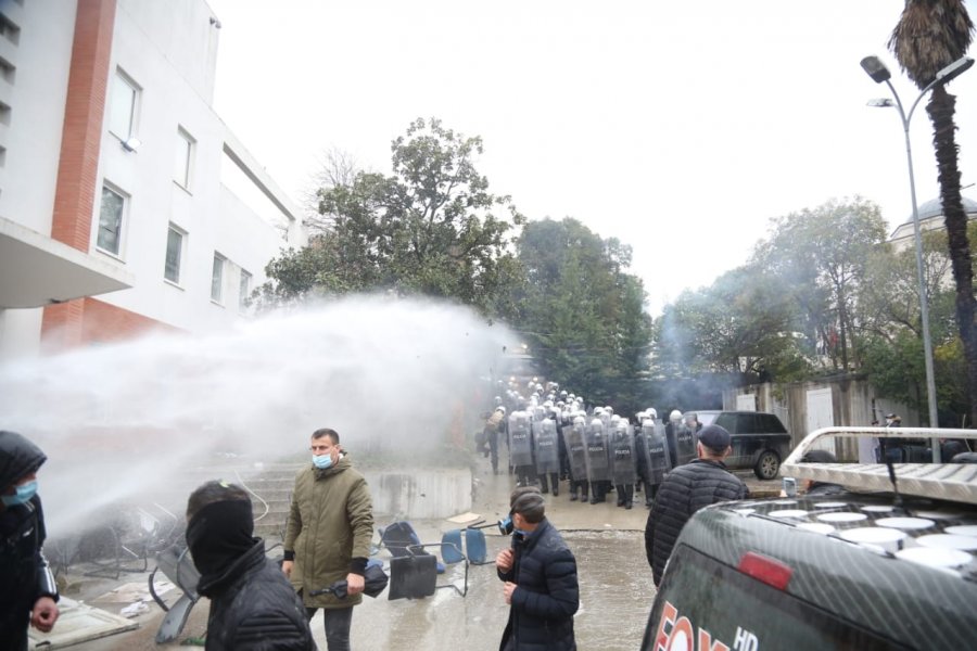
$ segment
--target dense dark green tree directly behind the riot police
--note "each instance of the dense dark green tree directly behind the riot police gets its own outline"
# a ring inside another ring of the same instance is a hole
[[[526,281],[515,326],[544,374],[592,403],[635,406],[651,321],[642,281],[625,271],[631,247],[575,219],[545,219],[525,226],[518,256]]]

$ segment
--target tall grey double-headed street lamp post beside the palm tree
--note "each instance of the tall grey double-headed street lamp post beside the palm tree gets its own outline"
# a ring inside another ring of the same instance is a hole
[[[889,69],[886,67],[886,65],[878,59],[878,56],[866,56],[862,60],[861,63],[862,68],[865,71],[865,73],[868,74],[870,77],[872,77],[872,80],[876,84],[881,84],[883,81],[885,81],[886,86],[889,87],[889,92],[891,92],[892,97],[896,99],[894,104],[892,103],[892,100],[884,99],[872,100],[868,102],[868,105],[896,106],[896,108],[899,110],[899,118],[902,120],[902,131],[905,136],[905,157],[909,163],[910,171],[910,196],[913,201],[913,232],[915,235],[914,239],[916,244],[916,278],[918,280],[919,290],[919,318],[923,321],[923,356],[924,362],[926,365],[926,397],[929,406],[929,426],[938,427],[939,417],[937,413],[936,381],[934,380],[932,373],[932,340],[929,336],[929,302],[926,299],[926,279],[923,269],[923,235],[919,231],[919,208],[916,203],[916,179],[915,175],[913,174],[913,150],[912,145],[910,144],[909,126],[910,120],[913,118],[913,112],[916,110],[916,106],[919,105],[919,101],[926,95],[926,93],[928,93],[937,86],[948,84],[951,79],[966,72],[972,65],[974,65],[974,60],[969,56],[963,56],[938,72],[936,78],[919,92],[919,97],[917,97],[916,101],[913,102],[913,105],[910,106],[909,113],[905,113],[905,111],[903,111],[902,101],[899,99],[899,93],[896,92],[896,88],[890,81],[892,75],[889,73]],[[930,447],[932,448],[932,462],[939,463],[939,438],[930,439]]]

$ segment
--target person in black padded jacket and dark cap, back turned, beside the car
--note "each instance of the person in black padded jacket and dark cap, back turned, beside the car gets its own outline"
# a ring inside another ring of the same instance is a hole
[[[723,463],[733,451],[731,441],[729,433],[719,425],[703,427],[696,443],[698,458],[672,470],[659,487],[645,525],[645,553],[656,587],[691,514],[702,507],[744,499],[749,494],[746,484]]]

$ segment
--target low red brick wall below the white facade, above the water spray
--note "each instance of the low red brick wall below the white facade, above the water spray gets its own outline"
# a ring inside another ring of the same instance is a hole
[[[45,349],[55,353],[76,346],[119,342],[150,332],[181,332],[97,298],[77,298],[45,308],[41,336]]]

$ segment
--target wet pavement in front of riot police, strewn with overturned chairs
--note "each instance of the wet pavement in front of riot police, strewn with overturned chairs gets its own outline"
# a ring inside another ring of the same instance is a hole
[[[493,475],[487,463],[479,459],[474,472],[472,511],[486,522],[495,522],[508,513],[508,496],[512,488],[509,475]],[[754,496],[773,494],[779,482],[759,482],[745,473],[737,473],[750,485]],[[550,522],[563,533],[578,561],[581,588],[581,605],[574,618],[578,647],[607,651],[637,649],[655,588],[651,571],[645,559],[644,528],[648,511],[644,496],[635,496],[632,510],[619,508],[614,494],[609,501],[599,505],[570,501],[562,483],[558,497],[547,496],[546,511]],[[386,521],[378,519],[378,524]],[[415,521],[413,523],[423,541],[439,541],[441,534],[458,525],[446,520]],[[509,538],[498,535],[494,527],[486,528],[488,558],[508,546]],[[385,552],[380,557],[384,558]],[[145,585],[147,573],[125,574],[118,580],[98,579],[79,582],[74,599],[89,605],[118,613],[129,602],[112,601],[106,593],[122,584]],[[439,576],[439,585],[454,583],[464,587],[464,570],[460,564],[448,565]],[[176,591],[165,600],[173,603]],[[134,617],[140,627],[83,642],[71,647],[83,651],[122,651],[141,649],[175,649],[178,642],[157,646],[156,630],[163,618],[162,610],[149,602],[147,612]],[[179,641],[200,638],[206,629],[207,601],[204,599],[190,614]],[[472,565],[469,569],[468,593],[461,597],[454,589],[439,589],[434,596],[420,600],[389,601],[386,592],[379,599],[365,599],[353,615],[353,648],[363,650],[456,650],[497,649],[508,617],[508,607],[503,597],[502,582],[495,566]],[[321,615],[313,622],[313,633],[319,649],[326,649]],[[182,647],[182,648],[186,648]]]

